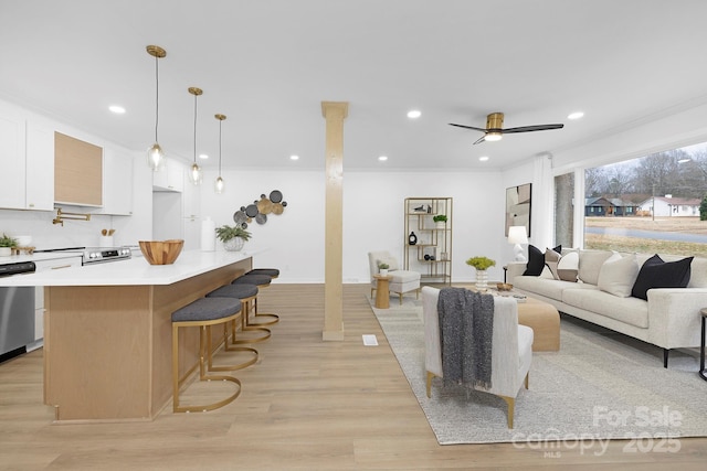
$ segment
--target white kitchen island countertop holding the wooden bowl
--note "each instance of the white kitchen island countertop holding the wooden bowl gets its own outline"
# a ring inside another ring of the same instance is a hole
[[[184,250],[172,265],[150,265],[144,257],[135,257],[107,264],[0,277],[0,287],[171,285],[244,260],[255,254],[256,251]],[[34,257],[46,255],[49,254],[17,256],[12,257],[17,258],[12,261],[38,261]],[[53,255],[51,258],[61,258],[56,257],[55,253]]]

